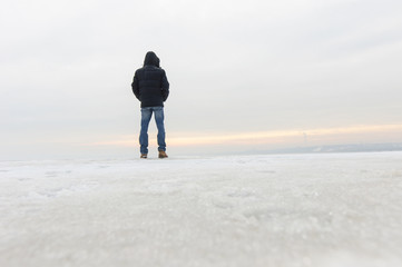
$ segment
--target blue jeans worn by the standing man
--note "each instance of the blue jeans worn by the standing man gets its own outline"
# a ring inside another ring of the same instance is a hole
[[[150,118],[155,113],[155,122],[158,128],[158,150],[166,151],[165,144],[165,126],[164,126],[164,108],[163,107],[147,107],[141,108],[141,131],[139,134],[140,152],[148,154],[148,126]]]

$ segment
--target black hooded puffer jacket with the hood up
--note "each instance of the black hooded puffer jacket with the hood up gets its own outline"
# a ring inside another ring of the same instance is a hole
[[[147,52],[144,67],[136,70],[131,83],[133,92],[141,101],[141,108],[164,107],[169,96],[169,82],[165,70],[159,67],[155,52]]]

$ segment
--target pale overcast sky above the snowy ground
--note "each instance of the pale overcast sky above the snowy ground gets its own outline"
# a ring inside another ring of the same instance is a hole
[[[149,50],[173,152],[402,141],[399,0],[14,0],[0,30],[2,159],[137,156]]]

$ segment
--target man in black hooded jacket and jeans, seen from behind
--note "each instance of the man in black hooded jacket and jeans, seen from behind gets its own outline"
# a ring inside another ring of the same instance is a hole
[[[158,128],[159,158],[167,158],[164,126],[164,102],[169,96],[169,82],[159,67],[155,52],[147,52],[144,67],[136,70],[131,83],[133,92],[141,102],[141,130],[139,134],[140,158],[148,156],[148,126],[154,113]]]

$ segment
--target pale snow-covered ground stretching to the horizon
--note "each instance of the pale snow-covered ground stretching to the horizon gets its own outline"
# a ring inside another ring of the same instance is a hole
[[[402,152],[2,161],[0,266],[402,266]]]

